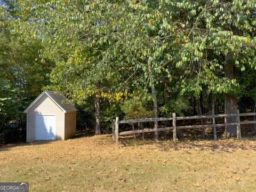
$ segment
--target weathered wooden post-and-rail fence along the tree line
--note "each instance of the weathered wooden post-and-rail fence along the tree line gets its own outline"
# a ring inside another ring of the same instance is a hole
[[[132,134],[138,134],[138,133],[150,133],[150,132],[156,132],[156,131],[170,131],[173,130],[173,142],[175,143],[177,140],[177,129],[204,129],[206,127],[213,127],[213,137],[214,140],[217,139],[217,133],[216,128],[220,126],[225,126],[227,130],[227,126],[229,125],[236,125],[237,126],[237,139],[241,139],[241,125],[245,124],[254,124],[255,128],[255,118],[254,121],[240,121],[240,117],[242,116],[255,116],[256,113],[243,113],[239,114],[239,110],[237,110],[236,114],[221,114],[221,115],[199,115],[199,116],[187,116],[187,117],[176,117],[176,114],[173,113],[171,118],[146,118],[146,119],[129,119],[129,120],[122,120],[119,121],[119,117],[116,117],[116,119],[113,120],[113,127],[112,127],[112,133],[113,133],[113,141],[116,142],[116,145],[118,145],[118,137],[122,135],[132,135]],[[221,124],[215,124],[215,118],[224,117],[225,123]],[[236,122],[234,123],[227,123],[227,117],[236,117]],[[205,119],[205,118],[212,118],[213,123],[212,124],[206,124],[206,125],[185,125],[185,126],[177,126],[178,120],[189,120],[189,119]],[[171,127],[161,127],[158,129],[142,129],[142,130],[133,130],[133,131],[124,131],[124,132],[118,132],[119,130],[119,124],[129,124],[131,123],[134,129],[134,123],[142,123],[142,122],[159,122],[159,121],[172,121]],[[255,131],[255,130],[254,130]]]

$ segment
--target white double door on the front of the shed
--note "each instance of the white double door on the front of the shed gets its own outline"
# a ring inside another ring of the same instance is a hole
[[[55,115],[36,116],[36,140],[55,140]]]

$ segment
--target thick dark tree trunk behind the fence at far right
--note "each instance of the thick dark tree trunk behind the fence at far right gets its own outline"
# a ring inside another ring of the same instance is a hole
[[[235,79],[236,71],[235,64],[233,62],[234,54],[228,52],[225,58],[225,77],[229,79]],[[236,114],[237,112],[237,100],[235,95],[225,93],[225,114]],[[227,117],[227,123],[235,123],[236,117]],[[236,125],[228,125],[226,130],[227,137],[236,136]]]

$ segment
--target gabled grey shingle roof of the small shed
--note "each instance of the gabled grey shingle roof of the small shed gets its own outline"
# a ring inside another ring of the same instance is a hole
[[[54,92],[54,91],[43,91],[28,107],[23,111],[23,113],[27,113],[27,111],[40,99],[43,95],[46,94],[64,113],[69,111],[76,111],[75,106],[65,97],[65,95]]]

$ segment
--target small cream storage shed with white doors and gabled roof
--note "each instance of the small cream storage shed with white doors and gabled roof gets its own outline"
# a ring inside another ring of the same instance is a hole
[[[43,91],[24,111],[27,113],[27,142],[74,137],[76,111],[65,95]]]

